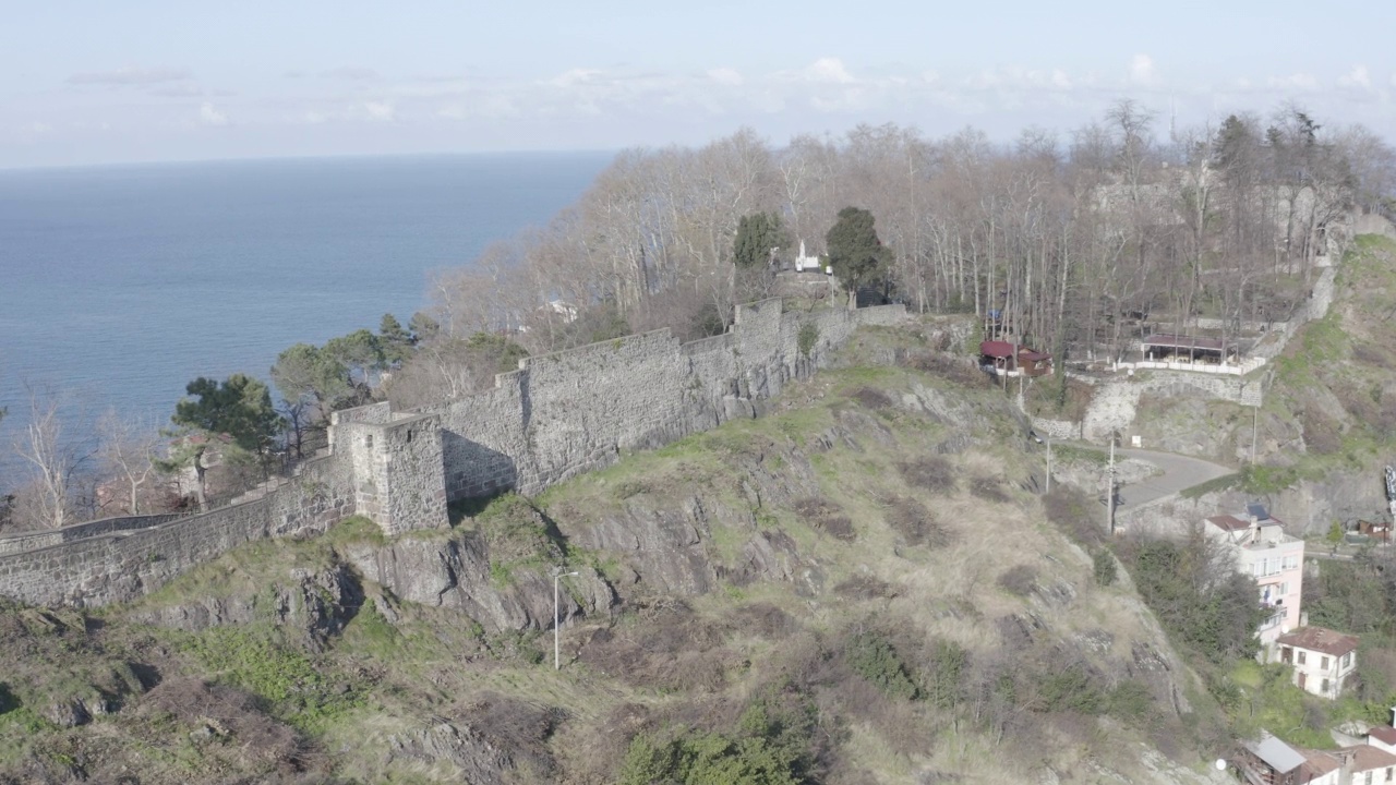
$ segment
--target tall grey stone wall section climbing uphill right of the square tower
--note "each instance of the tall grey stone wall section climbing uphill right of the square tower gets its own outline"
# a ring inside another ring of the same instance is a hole
[[[902,306],[783,313],[737,307],[733,330],[680,344],[667,330],[526,358],[493,390],[426,409],[441,419],[451,500],[537,493],[631,450],[669,444],[734,416],[821,367],[860,324],[895,324]],[[800,330],[818,339],[805,358]]]

